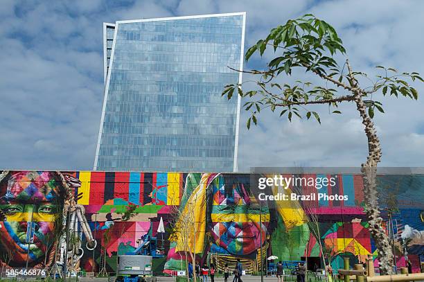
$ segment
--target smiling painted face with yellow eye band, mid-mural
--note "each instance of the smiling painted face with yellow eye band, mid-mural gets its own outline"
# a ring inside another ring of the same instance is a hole
[[[266,203],[259,204],[247,185],[226,180],[219,175],[208,187],[213,193],[211,235],[217,246],[213,251],[248,255],[265,243],[270,210]]]

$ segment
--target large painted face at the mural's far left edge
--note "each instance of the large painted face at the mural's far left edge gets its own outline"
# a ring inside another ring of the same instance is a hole
[[[11,266],[44,261],[52,245],[55,213],[60,209],[62,182],[53,172],[19,171],[2,175],[0,209],[1,249],[15,250]],[[28,222],[35,222],[34,242],[26,243]],[[28,253],[29,246],[29,253]]]

